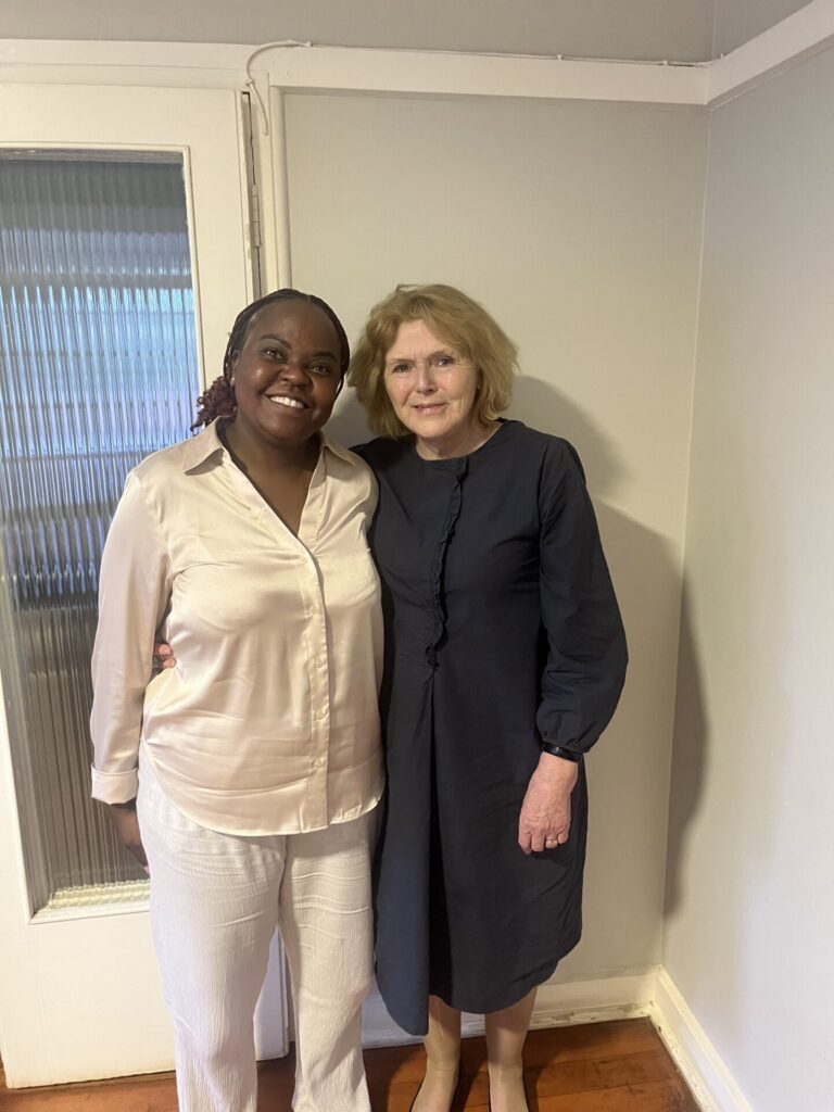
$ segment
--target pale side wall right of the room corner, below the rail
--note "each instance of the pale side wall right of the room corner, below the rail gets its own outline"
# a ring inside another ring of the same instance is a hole
[[[834,1108],[834,51],[713,118],[665,964],[755,1112]]]

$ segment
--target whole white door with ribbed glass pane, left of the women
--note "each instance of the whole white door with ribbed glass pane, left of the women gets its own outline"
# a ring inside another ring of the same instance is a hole
[[[234,93],[3,99],[0,1050],[26,1085],[171,1064],[148,882],[89,798],[98,567],[127,471],[189,435],[251,277]],[[275,1053],[280,984],[271,1004]]]

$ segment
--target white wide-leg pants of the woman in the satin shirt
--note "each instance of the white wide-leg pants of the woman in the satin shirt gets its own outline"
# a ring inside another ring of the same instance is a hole
[[[173,807],[147,758],[137,807],[180,1112],[256,1112],[252,1020],[276,927],[292,983],[295,1112],[369,1112],[360,1029],[373,816],[306,834],[219,834]]]

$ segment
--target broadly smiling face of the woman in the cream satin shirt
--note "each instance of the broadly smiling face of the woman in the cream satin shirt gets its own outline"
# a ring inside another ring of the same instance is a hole
[[[231,376],[236,433],[298,447],[318,433],[339,393],[336,329],[316,305],[272,301],[250,320]]]

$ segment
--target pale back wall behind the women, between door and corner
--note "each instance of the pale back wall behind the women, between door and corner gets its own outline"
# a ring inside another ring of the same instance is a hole
[[[397,281],[449,281],[522,348],[513,414],[573,439],[632,671],[589,759],[577,979],[661,956],[706,115],[381,97],[287,99],[294,282],[358,332]],[[335,426],[365,437],[356,403]]]

